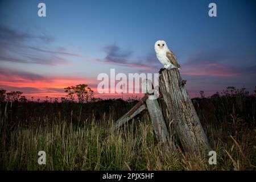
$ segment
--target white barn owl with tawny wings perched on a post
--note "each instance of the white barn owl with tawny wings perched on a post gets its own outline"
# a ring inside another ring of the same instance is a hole
[[[180,65],[177,63],[177,59],[168,49],[166,42],[164,40],[158,40],[155,43],[155,52],[156,57],[158,57],[158,60],[160,63],[164,65],[164,68],[166,69],[172,69],[172,68],[178,68],[180,70]]]

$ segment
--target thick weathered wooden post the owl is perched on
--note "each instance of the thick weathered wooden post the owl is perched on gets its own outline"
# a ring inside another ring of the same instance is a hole
[[[207,137],[184,84],[177,68],[164,69],[159,76],[160,92],[184,150],[191,153],[209,150]]]

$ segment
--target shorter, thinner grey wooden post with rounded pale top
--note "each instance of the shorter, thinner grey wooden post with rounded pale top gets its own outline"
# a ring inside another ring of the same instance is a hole
[[[162,143],[162,147],[166,152],[170,150],[176,151],[175,144],[172,141],[172,138],[169,137],[166,122],[164,121],[162,110],[157,100],[158,96],[152,94],[154,93],[154,90],[152,89],[152,82],[150,80],[144,79],[142,81],[142,92],[149,94],[146,100],[146,105],[158,142]],[[171,143],[171,148],[168,148],[168,142]]]

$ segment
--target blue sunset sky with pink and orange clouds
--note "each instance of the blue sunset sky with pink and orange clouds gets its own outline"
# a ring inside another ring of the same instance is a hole
[[[38,3],[46,3],[46,17]],[[217,5],[217,17],[208,5]],[[256,1],[0,1],[0,88],[28,98],[63,97],[97,76],[158,73],[163,39],[191,97],[256,85]]]

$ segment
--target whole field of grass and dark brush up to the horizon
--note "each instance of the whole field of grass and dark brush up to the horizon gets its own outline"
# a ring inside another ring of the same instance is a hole
[[[1,102],[1,170],[255,170],[254,94],[215,94],[192,100],[213,150],[166,153],[156,141],[148,113],[114,130],[137,100]],[[160,101],[162,103],[162,101]],[[161,104],[162,107],[163,103]],[[165,110],[163,108],[163,110]],[[168,120],[168,113],[165,113]],[[176,138],[172,125],[170,135]],[[46,165],[38,164],[45,151]]]

